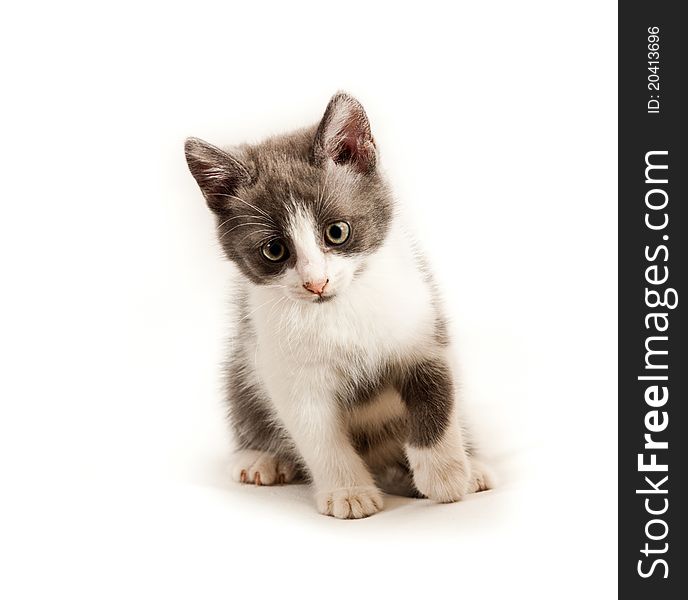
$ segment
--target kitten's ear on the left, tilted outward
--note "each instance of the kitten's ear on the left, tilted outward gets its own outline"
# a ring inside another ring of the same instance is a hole
[[[188,138],[184,152],[189,170],[211,210],[227,206],[228,196],[235,194],[239,186],[251,183],[251,175],[241,161],[212,144]]]

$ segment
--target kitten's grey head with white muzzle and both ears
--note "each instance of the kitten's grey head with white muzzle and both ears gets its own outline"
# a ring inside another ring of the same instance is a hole
[[[365,268],[392,218],[361,104],[336,94],[317,126],[221,150],[186,141],[227,257],[290,298],[334,298]]]

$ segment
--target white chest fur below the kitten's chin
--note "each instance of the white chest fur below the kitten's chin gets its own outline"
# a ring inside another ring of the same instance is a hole
[[[426,346],[434,332],[432,292],[401,232],[394,231],[361,268],[329,302],[299,302],[284,298],[279,288],[252,288],[259,362],[327,368],[353,355],[373,365],[408,358]]]

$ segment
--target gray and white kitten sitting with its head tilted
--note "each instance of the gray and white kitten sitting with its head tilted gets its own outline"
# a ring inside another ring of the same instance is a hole
[[[440,302],[361,104],[339,93],[317,126],[185,150],[244,276],[227,373],[234,479],[310,479],[339,518],[379,511],[380,488],[438,502],[488,489]]]

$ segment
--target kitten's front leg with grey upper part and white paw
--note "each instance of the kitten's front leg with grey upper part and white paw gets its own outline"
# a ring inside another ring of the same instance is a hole
[[[412,366],[399,392],[409,411],[406,455],[418,490],[437,502],[456,502],[482,485],[473,481],[446,362],[428,359]]]

